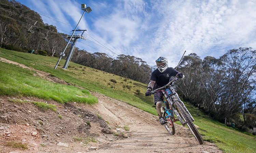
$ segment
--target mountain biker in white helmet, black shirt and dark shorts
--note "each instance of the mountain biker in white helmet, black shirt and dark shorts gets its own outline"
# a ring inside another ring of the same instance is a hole
[[[172,80],[172,76],[183,78],[183,73],[176,71],[172,67],[168,67],[168,61],[165,57],[159,57],[156,61],[157,69],[154,70],[150,77],[150,83],[148,83],[145,96],[149,96],[152,90],[160,88],[168,84]],[[161,107],[162,107],[163,94],[162,92],[156,92],[154,94],[154,104],[156,105],[156,111],[161,124],[165,124],[163,119]]]

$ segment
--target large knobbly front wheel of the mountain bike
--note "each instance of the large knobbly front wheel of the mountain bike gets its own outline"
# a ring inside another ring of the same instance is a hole
[[[177,107],[178,111],[182,115],[182,118],[184,119],[184,122],[188,126],[188,129],[192,132],[192,134],[194,135],[196,140],[200,143],[200,145],[202,145],[203,144],[203,139],[202,139],[201,135],[199,134],[199,132],[197,131],[194,123],[189,118],[187,112],[182,107],[181,103],[177,100],[177,101],[174,102],[174,105]]]

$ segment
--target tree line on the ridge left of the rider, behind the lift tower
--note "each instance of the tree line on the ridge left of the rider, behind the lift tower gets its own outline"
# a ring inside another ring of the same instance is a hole
[[[34,50],[35,54],[59,56],[68,42],[66,34],[58,33],[55,26],[43,23],[41,16],[27,6],[15,0],[0,1],[2,48],[23,52]],[[66,50],[71,49],[71,44]],[[113,59],[105,53],[90,53],[75,48],[71,62],[143,83],[148,82],[151,73],[151,67],[141,58],[123,54]]]

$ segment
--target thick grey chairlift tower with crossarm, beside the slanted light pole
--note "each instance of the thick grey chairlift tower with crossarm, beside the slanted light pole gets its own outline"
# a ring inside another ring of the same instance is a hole
[[[74,30],[72,30],[72,31],[74,31]],[[78,39],[81,38],[81,39],[87,40],[85,37],[83,37],[84,32],[87,31],[87,30],[76,30],[76,31],[83,31],[83,33],[82,33],[81,36],[79,35],[80,32],[79,33],[74,33],[73,36],[72,35],[68,35],[67,36],[67,38],[71,38],[72,37],[72,40],[74,40],[74,41],[73,41],[73,44],[72,44],[71,49],[69,51],[67,60],[66,60],[66,62],[64,64],[64,66],[62,67],[63,69],[66,69],[66,70],[67,70],[69,61],[71,60],[71,56],[72,56],[72,54],[74,52],[74,49],[75,49],[75,46],[76,46],[76,43],[77,43]]]

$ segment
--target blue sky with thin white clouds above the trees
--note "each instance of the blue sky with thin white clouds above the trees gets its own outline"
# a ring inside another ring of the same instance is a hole
[[[114,58],[136,56],[150,66],[163,56],[175,67],[185,50],[185,55],[196,53],[203,59],[239,47],[256,49],[255,0],[18,1],[67,34],[84,12],[81,4],[86,4],[92,11],[84,14],[78,29],[87,30],[87,40],[80,39],[76,47]]]

